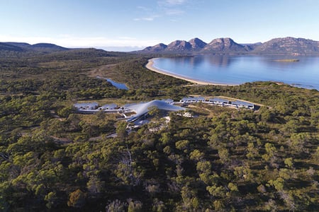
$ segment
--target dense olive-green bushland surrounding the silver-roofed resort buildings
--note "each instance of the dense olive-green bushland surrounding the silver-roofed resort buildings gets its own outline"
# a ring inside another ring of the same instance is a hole
[[[0,56],[0,211],[319,208],[318,90],[198,86],[145,69],[150,56],[96,49]],[[171,112],[168,123],[155,110],[133,131],[116,114],[73,108],[189,95],[262,106],[196,103],[194,117]]]

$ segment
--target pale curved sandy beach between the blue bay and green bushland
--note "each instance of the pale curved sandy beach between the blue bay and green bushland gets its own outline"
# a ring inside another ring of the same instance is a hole
[[[152,58],[152,59],[149,59],[147,64],[145,65],[145,67],[147,69],[149,69],[150,71],[155,71],[157,73],[162,73],[162,74],[165,74],[167,76],[172,76],[174,78],[180,78],[184,81],[189,81],[191,83],[195,83],[195,84],[198,84],[198,85],[212,85],[212,86],[236,86],[236,85],[231,85],[231,84],[225,84],[225,83],[211,83],[211,82],[206,82],[206,81],[200,81],[200,80],[196,80],[196,79],[193,79],[193,78],[188,78],[186,76],[180,76],[176,73],[170,73],[170,72],[167,72],[167,71],[164,71],[162,69],[157,69],[155,66],[154,66],[154,59],[156,58]]]

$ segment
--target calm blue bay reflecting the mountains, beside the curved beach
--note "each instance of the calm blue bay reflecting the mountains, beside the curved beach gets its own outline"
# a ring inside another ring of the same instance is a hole
[[[278,61],[298,59],[298,61]],[[319,90],[319,57],[201,55],[154,59],[155,68],[210,83],[279,81]]]

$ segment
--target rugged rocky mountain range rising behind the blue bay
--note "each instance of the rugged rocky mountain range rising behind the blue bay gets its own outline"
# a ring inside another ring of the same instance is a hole
[[[175,40],[169,45],[162,43],[146,47],[137,53],[157,54],[294,54],[319,55],[319,42],[304,38],[275,38],[268,42],[238,44],[229,37],[213,39],[206,43],[197,37],[189,40]]]

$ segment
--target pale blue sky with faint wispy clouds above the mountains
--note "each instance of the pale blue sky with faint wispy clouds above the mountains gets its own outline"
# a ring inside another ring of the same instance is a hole
[[[319,40],[319,1],[0,0],[0,42],[130,51],[194,37]]]

